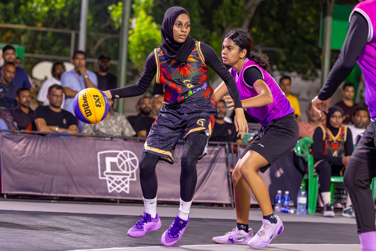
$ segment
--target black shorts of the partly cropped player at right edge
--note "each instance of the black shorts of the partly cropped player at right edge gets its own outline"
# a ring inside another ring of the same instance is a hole
[[[360,138],[351,158],[368,164],[370,170],[376,174],[376,123],[371,123],[365,128],[363,136]]]

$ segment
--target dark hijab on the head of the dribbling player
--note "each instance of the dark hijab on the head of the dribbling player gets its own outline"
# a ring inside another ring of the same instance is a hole
[[[161,25],[161,36],[163,41],[160,44],[163,52],[166,53],[169,58],[180,64],[187,61],[188,56],[191,54],[195,46],[195,41],[190,36],[187,36],[184,43],[178,43],[174,40],[173,27],[176,18],[181,14],[187,14],[189,17],[188,11],[179,6],[171,7],[166,11]]]

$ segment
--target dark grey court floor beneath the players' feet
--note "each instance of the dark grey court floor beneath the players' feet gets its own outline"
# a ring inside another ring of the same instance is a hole
[[[160,239],[173,218],[162,217],[161,229],[142,238],[131,238],[126,235],[127,230],[138,219],[134,215],[0,210],[0,250],[167,250]],[[354,224],[286,221],[284,226],[284,233],[271,243],[276,245],[261,250],[360,250],[354,245],[359,244]],[[233,219],[191,218],[179,246],[172,249],[251,250],[248,246],[214,245],[213,236],[223,235],[233,227]],[[250,227],[256,232],[261,222],[250,221]]]

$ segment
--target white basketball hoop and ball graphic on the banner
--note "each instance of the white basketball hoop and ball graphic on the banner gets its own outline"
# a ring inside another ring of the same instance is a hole
[[[129,193],[129,181],[136,180],[137,156],[128,150],[98,152],[99,178],[107,181],[108,192]]]

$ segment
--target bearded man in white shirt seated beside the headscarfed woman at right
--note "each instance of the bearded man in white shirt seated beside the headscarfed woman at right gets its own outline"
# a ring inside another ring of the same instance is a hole
[[[370,123],[370,113],[368,112],[368,109],[364,106],[356,107],[353,113],[352,121],[353,124],[347,125],[347,127],[351,130],[353,143],[356,145],[360,139],[358,135],[362,134],[367,125]]]

